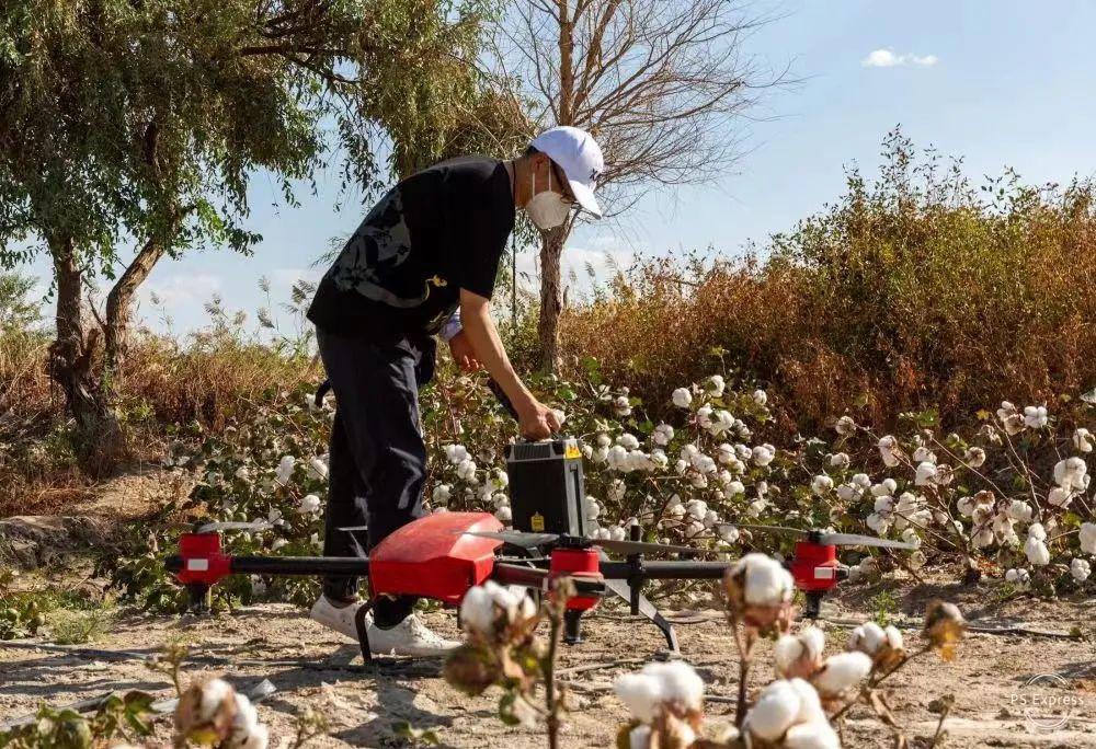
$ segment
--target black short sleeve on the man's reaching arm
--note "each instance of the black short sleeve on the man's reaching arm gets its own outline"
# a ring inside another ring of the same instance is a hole
[[[513,227],[513,209],[503,199],[510,198],[500,194],[493,180],[454,186],[457,192],[450,197],[449,232],[456,245],[450,255],[455,262],[453,280],[458,288],[490,299]]]

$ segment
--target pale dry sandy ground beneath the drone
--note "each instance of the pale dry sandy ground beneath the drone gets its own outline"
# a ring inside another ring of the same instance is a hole
[[[913,622],[924,601],[943,594],[956,601],[980,625],[1021,626],[1035,631],[1069,632],[1080,627],[1089,638],[1070,639],[1021,632],[972,632],[959,658],[943,662],[935,655],[911,662],[892,679],[890,704],[907,735],[931,736],[938,722],[936,699],[956,696],[946,728],[947,747],[1081,747],[1096,746],[1096,644],[1091,638],[1091,601],[1042,603],[1014,600],[986,606],[989,589],[906,587],[894,591],[900,614]],[[835,621],[863,620],[878,588],[850,588],[827,601],[823,615]],[[701,612],[709,621],[678,625],[681,653],[708,684],[706,713],[711,723],[729,722],[737,684],[733,642],[717,612]],[[430,623],[456,636],[449,612],[427,615]],[[827,652],[844,644],[847,626],[824,623]],[[589,618],[585,642],[564,648],[560,668],[570,685],[573,712],[567,719],[563,746],[612,747],[625,722],[623,705],[612,691],[616,676],[638,669],[664,647],[659,631],[609,607]],[[182,637],[193,644],[191,675],[226,676],[244,691],[269,679],[276,692],[260,705],[261,718],[277,737],[272,746],[289,746],[295,716],[301,707],[323,707],[331,717],[328,735],[310,747],[406,746],[393,726],[410,722],[434,728],[443,746],[509,749],[547,744],[536,728],[507,727],[495,717],[499,693],[467,698],[441,678],[437,661],[387,658],[364,670],[356,646],[309,621],[299,609],[265,604],[231,615],[144,617],[119,619],[112,631],[84,648],[125,650],[147,656],[163,643]],[[920,637],[907,631],[907,644]],[[148,669],[140,657],[109,657],[87,650],[42,649],[42,641],[0,643],[0,722],[30,712],[41,702],[53,705],[93,698],[110,690],[141,689],[170,696],[168,680]],[[760,655],[756,685],[770,676],[769,647]],[[1059,685],[1029,685],[1032,677],[1057,675]],[[1066,698],[1066,708],[1029,707]],[[1055,712],[1057,711],[1057,712]],[[1032,719],[1035,718],[1035,719]],[[161,723],[160,733],[167,726]],[[888,734],[863,708],[844,724],[845,746],[890,746]],[[916,746],[916,745],[915,745]]]

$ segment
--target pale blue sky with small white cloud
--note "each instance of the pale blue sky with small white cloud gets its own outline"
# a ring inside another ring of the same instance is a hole
[[[1096,2],[772,0],[751,8],[774,20],[746,39],[745,54],[765,68],[788,67],[796,82],[768,91],[735,130],[741,159],[716,184],[652,193],[612,221],[580,227],[564,264],[604,272],[607,253],[627,266],[637,256],[708,247],[734,256],[835,201],[849,165],[870,174],[895,125],[918,147],[963,157],[975,180],[1006,165],[1029,183],[1096,175]],[[318,278],[313,264],[330,240],[353,231],[365,212],[340,199],[336,174],[318,183],[316,195],[301,191],[300,206],[287,208],[276,183],[258,175],[248,226],[263,240],[254,254],[162,261],[141,291],[141,319],[163,331],[165,313],[170,332],[185,334],[204,323],[214,293],[253,313],[266,306],[260,277],[270,279],[275,307],[296,279]],[[534,267],[532,253],[518,262]],[[47,266],[39,260],[32,269],[42,275]]]

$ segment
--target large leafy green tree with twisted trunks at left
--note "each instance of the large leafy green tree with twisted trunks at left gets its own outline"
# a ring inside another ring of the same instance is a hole
[[[249,252],[256,170],[344,186],[444,151],[482,99],[479,0],[19,0],[0,11],[0,264],[54,267],[52,373],[81,430],[117,441],[111,390],[129,309],[164,255]],[[444,114],[443,114],[444,113]],[[326,130],[333,125],[336,143]],[[119,247],[136,244],[123,263]],[[121,273],[118,273],[121,270]],[[113,279],[100,315],[94,275]]]

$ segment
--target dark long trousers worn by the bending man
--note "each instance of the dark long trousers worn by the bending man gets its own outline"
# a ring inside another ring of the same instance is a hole
[[[320,358],[335,394],[331,425],[324,556],[365,556],[397,528],[422,517],[426,447],[419,413],[419,389],[434,371],[434,339],[377,344],[317,331]],[[361,532],[340,528],[368,526]],[[356,577],[329,577],[323,592],[346,599]],[[378,626],[395,626],[415,603],[413,597],[381,598],[374,609]]]

